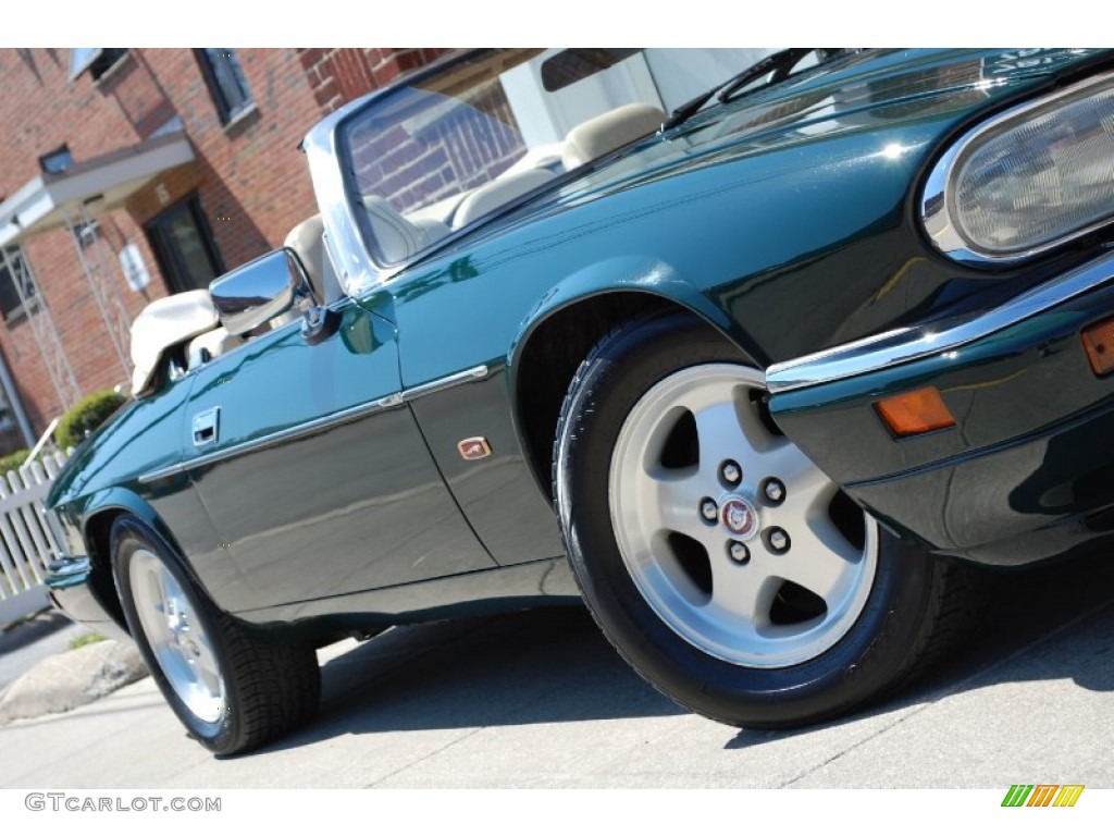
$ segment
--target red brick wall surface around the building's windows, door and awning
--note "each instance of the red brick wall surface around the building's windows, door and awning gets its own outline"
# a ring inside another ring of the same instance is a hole
[[[306,130],[344,101],[444,51],[237,49],[255,108],[225,126],[193,50],[133,49],[99,81],[89,74],[70,81],[66,49],[0,49],[0,195],[37,176],[38,157],[63,143],[80,162],[138,143],[180,117],[195,162],[156,178],[101,218],[114,255],[111,281],[134,317],[167,292],[143,231],[146,222],[197,192],[226,269],[278,246],[316,211],[297,150]],[[128,242],[139,246],[153,276],[145,294],[127,288],[115,263]],[[25,253],[82,391],[121,382],[124,370],[69,234],[43,233],[25,244]],[[26,320],[0,323],[0,351],[41,431],[62,406]]]

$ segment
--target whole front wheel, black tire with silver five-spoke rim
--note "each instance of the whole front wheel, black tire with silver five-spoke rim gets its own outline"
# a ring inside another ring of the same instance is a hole
[[[691,317],[624,325],[574,380],[554,476],[574,573],[627,661],[700,713],[778,728],[908,681],[973,609],[967,571],[881,529],[765,395]]]

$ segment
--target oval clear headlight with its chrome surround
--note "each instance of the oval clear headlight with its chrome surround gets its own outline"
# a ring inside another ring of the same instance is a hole
[[[1016,107],[968,133],[932,169],[921,204],[959,261],[1012,261],[1114,216],[1114,74]]]

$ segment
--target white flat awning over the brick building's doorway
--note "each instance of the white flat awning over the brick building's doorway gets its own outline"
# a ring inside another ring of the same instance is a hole
[[[58,174],[40,174],[0,203],[0,246],[116,208],[153,177],[194,159],[183,132],[153,137]]]

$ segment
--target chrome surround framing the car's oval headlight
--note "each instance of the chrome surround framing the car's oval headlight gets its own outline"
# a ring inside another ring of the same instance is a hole
[[[921,193],[920,222],[925,227],[925,232],[928,233],[929,239],[931,239],[932,243],[936,245],[936,249],[949,259],[965,264],[1010,264],[1013,262],[1032,257],[1055,246],[1059,246],[1068,241],[1086,235],[1089,232],[1094,232],[1101,226],[1107,225],[1111,222],[1111,218],[1108,217],[1086,227],[1075,230],[1067,235],[1063,235],[1054,241],[1042,244],[1040,246],[1032,247],[1022,252],[993,253],[980,251],[975,249],[974,244],[964,239],[956,224],[952,223],[951,215],[954,208],[952,202],[955,188],[952,186],[951,178],[955,175],[958,158],[987,132],[999,127],[1005,121],[1018,119],[1030,110],[1046,107],[1061,99],[1077,96],[1078,94],[1086,93],[1092,88],[1110,86],[1112,81],[1114,81],[1114,72],[1106,72],[1094,78],[1088,78],[1085,81],[1072,85],[1063,90],[1057,90],[1052,95],[1042,96],[1033,101],[1026,101],[1023,105],[1005,110],[997,116],[987,119],[980,125],[977,125],[975,128],[957,139],[955,144],[948,148],[947,153],[940,157],[937,164],[932,166],[932,171],[925,181],[925,189]]]

